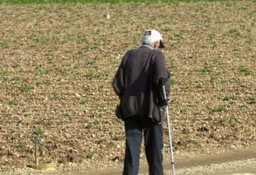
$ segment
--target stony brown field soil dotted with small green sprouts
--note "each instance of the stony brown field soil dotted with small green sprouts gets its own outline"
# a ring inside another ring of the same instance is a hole
[[[0,4],[0,171],[33,162],[34,133],[42,161],[119,165],[124,127],[111,81],[148,28],[166,43],[176,154],[255,144],[255,3],[115,4],[110,20],[105,9]],[[164,124],[164,155],[167,135]]]

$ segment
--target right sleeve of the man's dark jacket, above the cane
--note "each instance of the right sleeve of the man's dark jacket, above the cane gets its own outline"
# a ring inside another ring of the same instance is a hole
[[[166,95],[169,96],[171,91],[170,73],[166,68],[166,58],[164,57],[163,52],[157,50],[156,58],[154,60],[154,86],[159,86],[160,79],[166,79],[164,86]]]

